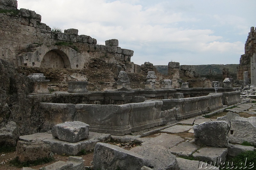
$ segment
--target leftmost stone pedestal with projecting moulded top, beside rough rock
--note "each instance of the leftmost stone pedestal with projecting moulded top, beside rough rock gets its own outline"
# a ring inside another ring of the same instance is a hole
[[[50,80],[45,80],[44,74],[33,73],[29,74],[28,78],[34,81],[32,94],[50,94],[50,91],[48,90],[48,82]]]

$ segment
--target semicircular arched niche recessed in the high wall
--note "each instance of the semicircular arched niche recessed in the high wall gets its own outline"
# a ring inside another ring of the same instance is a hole
[[[57,68],[57,69],[61,69],[61,68],[71,68],[71,64],[69,62],[68,56],[58,50],[58,49],[53,49],[48,51],[41,62],[40,67],[43,68]]]

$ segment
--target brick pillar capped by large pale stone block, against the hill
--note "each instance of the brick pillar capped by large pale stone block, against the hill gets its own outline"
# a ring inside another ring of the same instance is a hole
[[[178,79],[180,78],[180,63],[178,62],[168,63],[168,76],[172,80],[172,87],[179,88],[180,84],[178,83]]]

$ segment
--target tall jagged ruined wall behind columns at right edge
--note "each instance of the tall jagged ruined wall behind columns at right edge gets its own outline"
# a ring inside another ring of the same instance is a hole
[[[240,63],[237,67],[237,79],[243,79],[244,71],[248,71],[248,77],[251,77],[251,57],[256,53],[256,34],[255,28],[251,27],[251,31],[244,45],[244,54],[240,57]]]

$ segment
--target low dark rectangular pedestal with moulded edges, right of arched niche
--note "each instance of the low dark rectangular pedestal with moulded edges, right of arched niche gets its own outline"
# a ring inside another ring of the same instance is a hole
[[[87,81],[70,81],[68,82],[68,92],[69,93],[87,93],[86,89]]]

